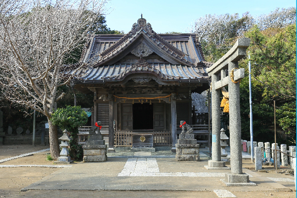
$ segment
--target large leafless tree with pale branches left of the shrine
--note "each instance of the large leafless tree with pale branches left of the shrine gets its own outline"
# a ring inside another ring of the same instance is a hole
[[[73,78],[62,72],[66,54],[87,39],[91,24],[105,11],[106,0],[54,2],[0,0],[0,92],[47,117],[50,153],[57,158],[57,127],[50,117],[64,96],[58,88]],[[73,69],[83,66],[77,64]]]

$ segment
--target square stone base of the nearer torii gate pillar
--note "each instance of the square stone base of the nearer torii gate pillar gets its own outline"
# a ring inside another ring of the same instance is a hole
[[[250,176],[246,173],[225,173],[225,178],[221,179],[220,181],[226,186],[256,186],[254,182],[250,181]]]

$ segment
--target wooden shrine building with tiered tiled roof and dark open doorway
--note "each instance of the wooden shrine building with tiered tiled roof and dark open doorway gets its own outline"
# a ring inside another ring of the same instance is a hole
[[[210,88],[211,63],[197,39],[157,34],[144,18],[126,35],[91,35],[80,60],[91,67],[77,73],[74,88],[93,92],[92,125],[101,121],[109,151],[132,147],[137,134],[174,150],[180,121],[192,124],[191,94]]]

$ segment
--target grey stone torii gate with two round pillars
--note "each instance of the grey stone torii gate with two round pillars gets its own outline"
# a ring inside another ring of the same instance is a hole
[[[227,186],[251,186],[249,175],[242,172],[241,121],[239,81],[244,78],[244,69],[238,69],[238,61],[246,56],[250,39],[240,38],[235,45],[210,68],[212,77],[212,160],[207,169],[229,169],[221,161],[220,148],[220,89],[228,85],[229,92],[229,131],[230,131],[230,165],[231,174],[226,173],[221,181]],[[226,70],[229,74],[226,76]]]

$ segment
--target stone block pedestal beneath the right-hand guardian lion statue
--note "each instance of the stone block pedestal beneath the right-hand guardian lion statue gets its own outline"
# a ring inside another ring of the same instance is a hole
[[[193,134],[192,134],[193,135]],[[200,161],[199,145],[195,139],[179,139],[177,140],[176,155],[177,161]]]

